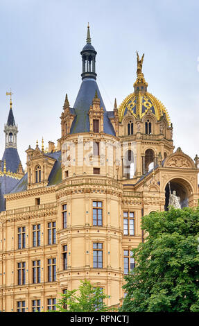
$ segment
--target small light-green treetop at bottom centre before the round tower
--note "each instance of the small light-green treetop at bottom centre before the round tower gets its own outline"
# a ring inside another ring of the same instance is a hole
[[[57,304],[59,312],[104,312],[110,311],[104,303],[107,295],[98,286],[93,286],[89,280],[80,281],[78,290],[67,290]],[[77,293],[78,292],[78,293]]]

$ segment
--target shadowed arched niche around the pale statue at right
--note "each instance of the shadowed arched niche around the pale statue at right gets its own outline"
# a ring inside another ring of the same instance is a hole
[[[170,185],[169,185],[170,183]],[[189,183],[182,179],[182,178],[174,178],[170,180],[170,182],[166,184],[165,187],[165,206],[164,209],[168,210],[168,201],[169,201],[169,194],[173,194],[175,191],[175,195],[180,197],[180,206],[189,207],[189,196],[191,195],[191,187]]]

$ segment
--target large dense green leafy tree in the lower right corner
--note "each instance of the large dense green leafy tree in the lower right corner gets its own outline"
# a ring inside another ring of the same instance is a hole
[[[144,216],[121,311],[199,311],[199,207]]]

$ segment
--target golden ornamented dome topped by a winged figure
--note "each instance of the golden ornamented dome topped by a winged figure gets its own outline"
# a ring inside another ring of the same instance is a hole
[[[133,85],[135,92],[128,95],[119,106],[119,121],[121,122],[123,120],[123,117],[125,117],[128,111],[130,111],[135,118],[140,119],[146,113],[151,112],[155,115],[157,121],[165,115],[168,125],[170,126],[171,121],[164,105],[155,96],[147,92],[148,84],[144,79],[144,74],[141,72],[143,58],[144,55],[141,60],[139,60],[139,55],[137,53],[137,80]]]

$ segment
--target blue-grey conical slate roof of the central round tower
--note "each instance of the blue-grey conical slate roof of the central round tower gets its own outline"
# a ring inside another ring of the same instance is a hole
[[[88,111],[90,105],[92,105],[92,101],[94,99],[96,91],[98,94],[98,98],[100,98],[101,101],[100,106],[103,107],[104,110],[104,132],[108,135],[115,135],[114,128],[108,118],[107,111],[105,110],[105,105],[103,103],[101,93],[98,89],[98,85],[96,83],[96,80],[94,80],[93,78],[83,79],[82,84],[80,85],[78,96],[73,105],[76,117],[71,125],[71,134],[76,134],[79,132],[89,132],[90,126]]]

